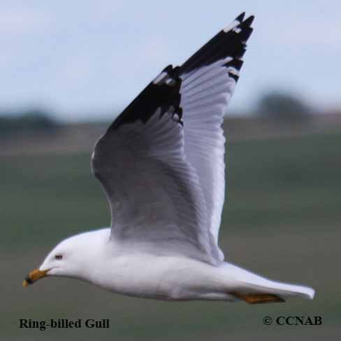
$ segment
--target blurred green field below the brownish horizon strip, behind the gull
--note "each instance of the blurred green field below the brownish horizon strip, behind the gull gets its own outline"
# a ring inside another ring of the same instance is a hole
[[[22,289],[29,270],[68,235],[108,226],[89,154],[2,157],[1,340],[321,340],[341,335],[341,134],[228,145],[221,227],[228,259],[308,284],[316,298],[284,304],[164,303],[52,278]],[[148,266],[146,264],[146,266]],[[322,326],[264,326],[314,316]],[[110,329],[17,328],[19,319],[110,319]]]

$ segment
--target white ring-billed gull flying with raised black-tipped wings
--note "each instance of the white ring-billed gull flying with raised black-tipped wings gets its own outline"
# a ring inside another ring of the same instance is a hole
[[[222,122],[254,16],[242,13],[182,64],[164,68],[97,141],[92,171],[111,226],[61,241],[23,285],[64,276],[159,300],[283,302],[307,286],[224,261]]]

